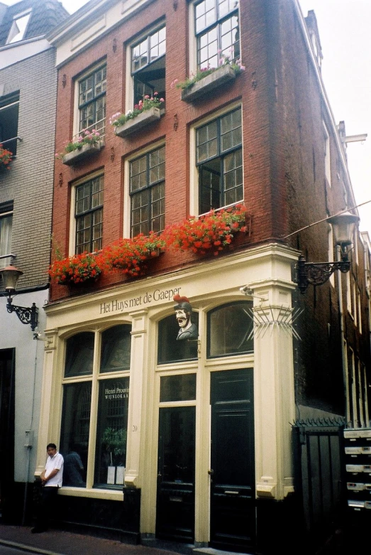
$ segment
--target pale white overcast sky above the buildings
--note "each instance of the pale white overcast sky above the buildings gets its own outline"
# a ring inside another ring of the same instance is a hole
[[[62,4],[72,14],[87,1],[62,0]],[[347,136],[367,134],[362,143],[348,143],[346,152],[355,201],[370,200],[358,210],[360,230],[371,238],[371,0],[299,0],[299,4],[304,16],[309,10],[316,14],[322,77],[336,124],[345,122]]]

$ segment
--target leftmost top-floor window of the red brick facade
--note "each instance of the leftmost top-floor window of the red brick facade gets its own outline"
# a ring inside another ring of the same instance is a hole
[[[79,80],[79,131],[96,129],[104,135],[106,125],[106,64]]]

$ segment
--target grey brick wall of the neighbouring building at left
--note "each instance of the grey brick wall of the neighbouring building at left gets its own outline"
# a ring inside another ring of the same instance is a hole
[[[56,70],[49,49],[0,70],[4,95],[20,91],[17,156],[0,176],[1,202],[13,200],[13,261],[18,288],[48,283],[54,171]]]

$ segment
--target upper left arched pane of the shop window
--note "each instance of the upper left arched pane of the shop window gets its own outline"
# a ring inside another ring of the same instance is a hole
[[[83,331],[66,341],[65,377],[92,374],[94,333]]]

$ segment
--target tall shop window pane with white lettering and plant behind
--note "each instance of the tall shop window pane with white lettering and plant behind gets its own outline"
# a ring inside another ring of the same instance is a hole
[[[128,377],[99,382],[95,487],[123,487],[128,400]]]

